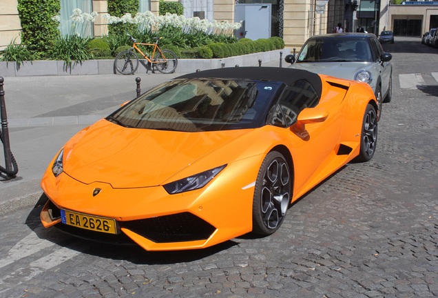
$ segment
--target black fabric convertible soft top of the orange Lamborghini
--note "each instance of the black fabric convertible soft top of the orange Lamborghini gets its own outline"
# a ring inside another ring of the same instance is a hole
[[[218,78],[218,79],[257,79],[262,81],[278,81],[292,86],[295,81],[305,79],[309,81],[319,96],[322,92],[322,83],[319,75],[307,70],[294,68],[274,68],[274,67],[235,67],[235,68],[216,68],[202,70],[185,74],[176,79],[189,78]]]

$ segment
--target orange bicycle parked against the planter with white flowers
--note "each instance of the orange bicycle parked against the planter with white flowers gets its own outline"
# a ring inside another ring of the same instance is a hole
[[[129,35],[129,34],[128,34]],[[175,71],[178,65],[178,58],[171,50],[161,50],[158,41],[162,37],[155,37],[155,43],[138,43],[134,37],[129,35],[132,40],[132,48],[120,52],[114,60],[114,67],[121,74],[133,74],[138,68],[138,52],[143,58],[150,63],[151,69],[156,68],[159,72],[169,74]],[[152,54],[148,57],[138,46],[149,46],[153,48]]]

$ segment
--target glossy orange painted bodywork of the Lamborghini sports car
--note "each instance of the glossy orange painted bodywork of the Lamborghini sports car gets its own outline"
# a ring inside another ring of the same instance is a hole
[[[289,151],[292,201],[359,154],[364,111],[368,103],[375,104],[371,88],[320,77],[320,103],[304,109],[289,128],[173,132],[123,128],[103,119],[65,144],[64,172],[54,177],[53,159],[41,188],[54,205],[66,210],[120,222],[190,212],[216,228],[208,239],[170,243],[156,243],[121,228],[146,250],[205,248],[244,235],[252,230],[255,180],[273,148]],[[341,145],[351,152],[337,155]],[[222,165],[227,166],[198,190],[169,195],[163,188],[165,183]],[[96,197],[94,188],[101,188]],[[50,219],[47,206],[41,221],[45,227],[59,223]]]

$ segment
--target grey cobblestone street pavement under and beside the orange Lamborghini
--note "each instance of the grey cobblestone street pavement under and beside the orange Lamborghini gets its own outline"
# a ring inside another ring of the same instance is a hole
[[[145,252],[44,230],[38,208],[19,210],[0,219],[0,296],[438,296],[438,83],[399,88],[405,70],[434,71],[401,68],[410,55],[394,54],[373,159],[294,203],[274,235]]]

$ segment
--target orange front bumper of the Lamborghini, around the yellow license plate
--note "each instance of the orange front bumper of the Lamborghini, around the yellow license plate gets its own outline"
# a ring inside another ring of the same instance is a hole
[[[48,196],[41,222],[77,237],[136,243],[145,250],[207,248],[252,230],[253,182],[260,158],[231,163],[205,188],[178,195],[167,194],[161,186],[116,189],[101,182],[84,184],[65,173],[54,177],[48,169],[41,181]],[[96,188],[101,192],[93,197]],[[115,219],[117,234],[63,224],[61,209]]]

